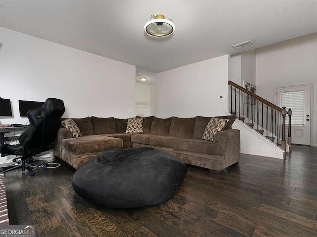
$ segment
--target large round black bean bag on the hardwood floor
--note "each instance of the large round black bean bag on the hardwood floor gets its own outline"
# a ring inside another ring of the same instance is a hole
[[[187,173],[178,158],[153,148],[102,152],[74,174],[75,192],[108,208],[151,206],[173,197]]]

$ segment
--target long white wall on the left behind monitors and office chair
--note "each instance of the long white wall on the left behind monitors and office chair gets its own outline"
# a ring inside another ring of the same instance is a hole
[[[4,28],[0,43],[0,96],[14,114],[2,124],[27,122],[18,100],[48,97],[64,101],[68,118],[134,116],[135,66]]]

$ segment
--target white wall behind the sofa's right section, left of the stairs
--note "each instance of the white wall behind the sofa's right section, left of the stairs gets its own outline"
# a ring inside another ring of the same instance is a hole
[[[157,117],[223,115],[227,110],[229,55],[157,74]],[[224,95],[223,100],[219,96]]]

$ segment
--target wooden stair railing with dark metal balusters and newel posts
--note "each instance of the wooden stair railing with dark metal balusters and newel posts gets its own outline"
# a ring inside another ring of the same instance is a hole
[[[285,122],[287,114],[287,144],[291,152],[291,109],[286,111],[285,107],[280,108],[230,80],[228,85],[229,95],[231,95],[230,113],[237,115],[238,119],[276,143],[277,146],[281,146],[284,159],[286,159]]]

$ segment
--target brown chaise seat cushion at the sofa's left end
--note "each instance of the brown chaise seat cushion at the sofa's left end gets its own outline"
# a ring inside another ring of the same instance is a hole
[[[62,141],[62,149],[70,151],[76,155],[102,152],[114,148],[122,148],[122,146],[122,139],[100,135],[67,138]]]

